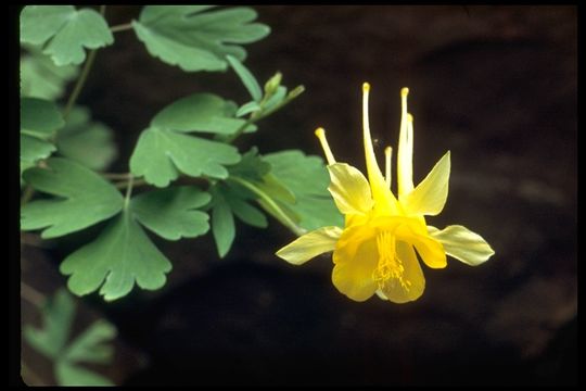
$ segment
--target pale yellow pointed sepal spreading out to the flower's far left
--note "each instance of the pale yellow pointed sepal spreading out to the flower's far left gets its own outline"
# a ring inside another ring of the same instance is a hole
[[[277,256],[293,265],[302,265],[319,254],[333,251],[341,235],[339,227],[316,229],[277,251]]]

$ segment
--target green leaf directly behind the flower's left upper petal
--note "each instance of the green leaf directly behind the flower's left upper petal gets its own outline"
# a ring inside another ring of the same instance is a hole
[[[263,159],[271,164],[271,174],[295,195],[296,202],[286,206],[298,214],[301,227],[314,230],[343,226],[343,217],[327,190],[330,178],[320,157],[289,150],[266,154]]]

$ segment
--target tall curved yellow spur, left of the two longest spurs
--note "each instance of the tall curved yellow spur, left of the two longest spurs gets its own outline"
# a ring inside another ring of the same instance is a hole
[[[370,85],[365,83],[362,85],[362,136],[365,144],[365,159],[368,172],[368,181],[372,189],[372,198],[375,203],[375,207],[382,213],[397,214],[399,211],[398,202],[395,195],[391,192],[386,186],[386,181],[377,163],[377,156],[374,155],[374,148],[372,147],[372,138],[370,136],[370,123],[368,117],[368,96],[370,91]]]

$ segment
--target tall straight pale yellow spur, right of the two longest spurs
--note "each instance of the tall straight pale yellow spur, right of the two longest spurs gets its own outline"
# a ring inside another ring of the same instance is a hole
[[[397,151],[399,199],[413,189],[413,117],[407,113],[408,88],[400,90],[400,130]]]

